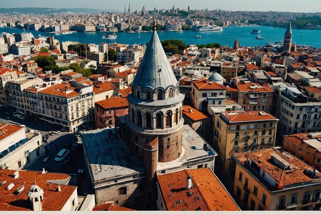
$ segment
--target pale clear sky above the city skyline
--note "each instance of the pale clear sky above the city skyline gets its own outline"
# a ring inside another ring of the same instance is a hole
[[[1,0],[2,8],[48,7],[48,8],[96,8],[124,11],[131,2],[131,11],[175,8],[222,9],[247,11],[321,12],[320,0]]]

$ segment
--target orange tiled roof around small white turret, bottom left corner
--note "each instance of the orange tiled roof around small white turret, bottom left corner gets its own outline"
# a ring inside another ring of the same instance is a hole
[[[31,202],[27,193],[36,181],[36,185],[44,190],[44,200],[42,206],[44,211],[61,210],[72,193],[76,190],[76,186],[60,185],[62,191],[56,191],[58,185],[49,183],[49,181],[68,182],[70,176],[68,174],[45,173],[36,171],[19,171],[19,178],[14,179],[15,170],[0,169],[1,181],[6,181],[5,185],[0,186],[0,210],[2,211],[21,211],[32,210]],[[12,189],[6,187],[13,183]],[[24,186],[24,190],[17,194],[16,190]]]

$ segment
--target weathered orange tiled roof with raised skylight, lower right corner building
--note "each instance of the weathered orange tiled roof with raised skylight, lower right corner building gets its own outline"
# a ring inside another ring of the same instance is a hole
[[[290,165],[290,169],[283,170],[271,159],[271,155],[278,156],[278,159]],[[313,170],[311,166],[299,160],[294,155],[288,152],[275,151],[274,149],[249,151],[244,153],[232,154],[242,164],[247,160],[253,161],[259,168],[268,173],[276,182],[280,184],[293,185],[304,182],[314,182],[315,179],[310,178],[304,173],[305,169]],[[316,174],[316,179],[321,178],[321,173]],[[282,179],[282,180],[281,180]],[[269,186],[270,190],[275,190],[275,187]]]

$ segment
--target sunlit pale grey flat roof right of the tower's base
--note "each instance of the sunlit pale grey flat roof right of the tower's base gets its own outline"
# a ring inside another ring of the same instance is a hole
[[[203,149],[205,143],[210,147],[210,145],[189,125],[184,125],[182,154],[180,154],[180,157],[174,161],[166,163],[158,162],[156,170],[175,168],[194,159],[216,156],[217,153],[213,148],[210,147],[212,154],[210,151],[205,151]]]

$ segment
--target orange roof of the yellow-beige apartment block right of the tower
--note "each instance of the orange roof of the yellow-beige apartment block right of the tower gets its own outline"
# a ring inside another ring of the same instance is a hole
[[[265,111],[224,111],[224,115],[229,123],[252,122],[252,121],[278,121],[277,118]],[[221,116],[222,117],[222,116]]]

